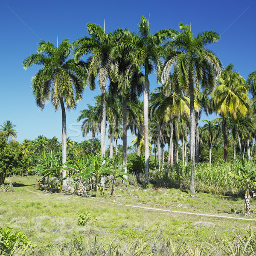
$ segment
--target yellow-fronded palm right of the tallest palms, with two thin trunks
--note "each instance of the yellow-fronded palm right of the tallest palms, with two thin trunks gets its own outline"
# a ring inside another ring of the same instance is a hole
[[[224,138],[224,160],[227,161],[227,132],[226,132],[226,116],[230,114],[233,117],[236,129],[236,135],[239,143],[240,158],[242,155],[241,141],[236,124],[237,114],[244,116],[249,108],[250,99],[247,90],[249,86],[245,84],[245,80],[234,70],[234,65],[229,64],[222,71],[221,77],[218,79],[217,86],[212,92],[212,100],[215,104],[215,111],[221,114],[223,122],[223,138]]]

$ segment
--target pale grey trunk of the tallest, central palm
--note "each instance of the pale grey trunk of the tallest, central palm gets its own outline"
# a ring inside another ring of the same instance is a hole
[[[145,81],[143,87],[144,143],[145,143],[145,184],[149,183],[149,147],[148,147],[148,59],[145,60]]]

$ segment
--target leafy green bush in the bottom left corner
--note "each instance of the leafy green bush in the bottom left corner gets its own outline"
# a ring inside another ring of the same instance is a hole
[[[0,255],[9,256],[19,247],[23,247],[23,252],[27,249],[35,248],[36,245],[27,238],[21,231],[15,231],[9,227],[0,229]],[[24,255],[24,254],[23,254]]]

